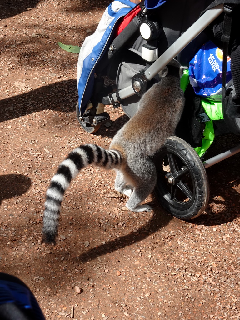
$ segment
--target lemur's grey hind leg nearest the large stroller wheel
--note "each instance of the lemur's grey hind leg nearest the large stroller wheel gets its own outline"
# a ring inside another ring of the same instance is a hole
[[[151,206],[142,204],[156,185],[156,167],[150,159],[137,159],[138,166],[129,168],[136,182],[132,195],[126,203],[126,207],[133,212],[151,211]]]

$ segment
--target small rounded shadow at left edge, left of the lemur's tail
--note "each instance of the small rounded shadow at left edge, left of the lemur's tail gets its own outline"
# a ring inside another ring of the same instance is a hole
[[[20,196],[31,186],[31,181],[22,174],[0,176],[0,204],[4,199]]]

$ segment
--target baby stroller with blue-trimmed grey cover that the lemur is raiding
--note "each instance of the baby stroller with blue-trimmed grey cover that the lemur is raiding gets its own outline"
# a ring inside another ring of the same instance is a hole
[[[221,116],[216,119],[210,115],[211,107],[209,112],[203,108],[203,99],[188,84],[188,75],[187,80],[183,77],[186,104],[176,136],[169,137],[153,159],[158,175],[155,195],[179,219],[194,219],[206,208],[205,169],[240,151],[239,145],[207,159],[211,143],[203,143],[208,123],[213,137],[240,133],[239,7],[240,0],[145,0],[138,5],[115,1],[79,54],[76,114],[84,130],[93,133],[109,119],[105,105],[121,106],[131,118],[142,94],[173,58],[188,67],[209,39],[223,50]],[[234,85],[226,90],[228,55]],[[112,80],[111,85],[104,85],[106,78]]]

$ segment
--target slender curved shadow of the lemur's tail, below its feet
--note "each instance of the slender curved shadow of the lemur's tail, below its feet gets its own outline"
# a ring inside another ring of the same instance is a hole
[[[83,263],[93,260],[99,256],[106,255],[109,252],[113,252],[122,248],[125,248],[133,243],[139,242],[146,239],[148,236],[155,234],[159,229],[168,225],[169,222],[173,219],[171,214],[168,214],[164,209],[156,203],[155,197],[150,204],[154,203],[155,213],[153,217],[149,219],[149,222],[144,223],[136,232],[130,232],[127,235],[118,237],[116,239],[108,241],[106,244],[98,245],[87,252],[82,253],[80,256],[75,259],[82,261]],[[134,213],[134,212],[133,212]]]

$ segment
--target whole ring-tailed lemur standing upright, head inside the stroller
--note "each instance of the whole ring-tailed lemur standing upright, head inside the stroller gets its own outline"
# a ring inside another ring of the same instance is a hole
[[[182,67],[172,60],[159,75],[163,76],[145,92],[136,114],[116,133],[109,150],[95,144],[80,145],[59,165],[46,192],[43,238],[55,243],[61,202],[80,170],[89,164],[116,170],[115,189],[129,199],[126,207],[133,212],[150,211],[142,204],[156,185],[156,167],[150,159],[174,134],[184,106],[180,89]]]

